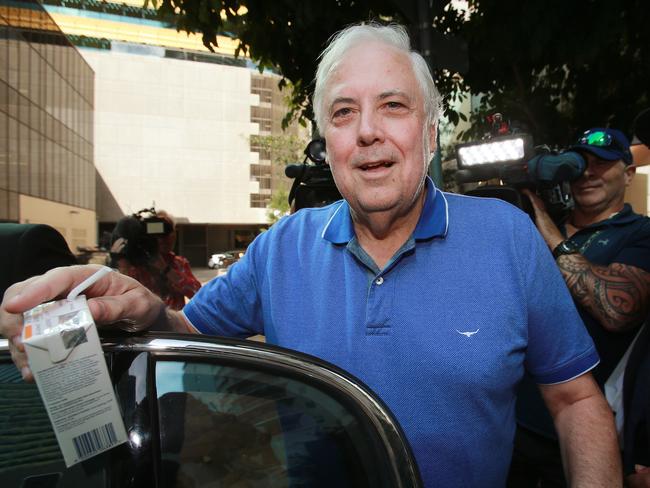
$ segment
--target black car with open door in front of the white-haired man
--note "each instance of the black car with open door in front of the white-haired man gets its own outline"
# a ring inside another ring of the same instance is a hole
[[[3,488],[422,486],[388,408],[331,364],[207,336],[103,346],[129,441],[66,469],[35,384],[0,340]]]

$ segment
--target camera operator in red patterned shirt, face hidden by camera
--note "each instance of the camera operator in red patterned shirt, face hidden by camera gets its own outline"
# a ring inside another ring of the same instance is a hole
[[[187,259],[172,251],[176,226],[171,216],[162,210],[153,212],[164,224],[164,231],[148,235],[140,214],[124,217],[115,226],[111,247],[114,267],[149,288],[170,308],[180,310],[185,297],[192,298],[201,283]]]

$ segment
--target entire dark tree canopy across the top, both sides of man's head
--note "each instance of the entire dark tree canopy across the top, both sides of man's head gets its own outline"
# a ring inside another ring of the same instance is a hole
[[[179,30],[202,33],[207,46],[230,32],[260,69],[279,71],[293,86],[287,122],[311,118],[317,56],[334,32],[361,20],[417,22],[416,0],[148,1]],[[462,77],[434,69],[452,123],[464,115],[449,102],[483,94],[473,122],[500,111],[525,124],[537,143],[564,145],[593,126],[629,133],[634,116],[650,106],[647,0],[467,0],[471,15],[447,0],[432,3],[436,30],[468,43]],[[238,14],[241,7],[246,13]],[[464,136],[483,130],[475,123]]]

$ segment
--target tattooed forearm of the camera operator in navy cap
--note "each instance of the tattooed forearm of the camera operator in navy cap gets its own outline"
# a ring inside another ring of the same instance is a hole
[[[634,266],[599,266],[582,254],[557,259],[574,300],[610,332],[639,325],[648,315],[650,273]]]

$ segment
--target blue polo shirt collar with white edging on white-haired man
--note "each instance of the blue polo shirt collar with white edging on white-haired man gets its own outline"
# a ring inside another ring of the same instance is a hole
[[[413,232],[416,241],[445,237],[449,226],[449,211],[444,194],[427,176],[424,207]],[[321,237],[333,244],[347,244],[355,237],[350,206],[345,200],[333,205],[333,213],[323,228]]]

